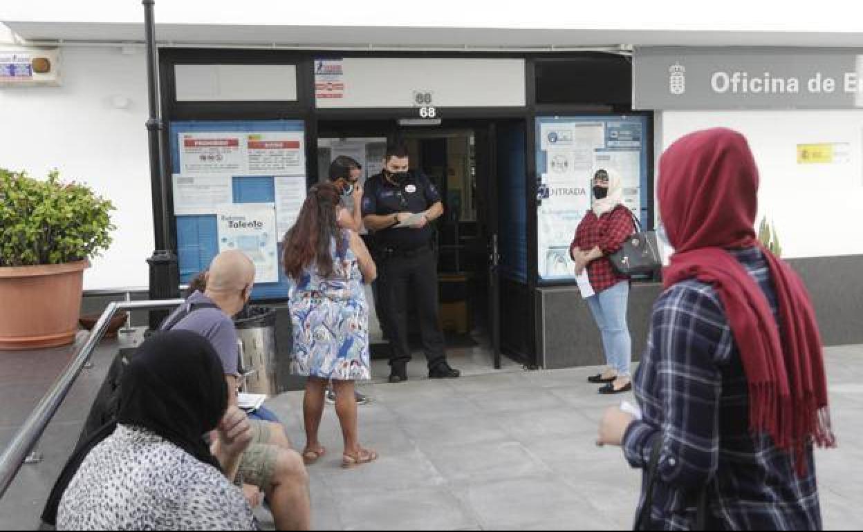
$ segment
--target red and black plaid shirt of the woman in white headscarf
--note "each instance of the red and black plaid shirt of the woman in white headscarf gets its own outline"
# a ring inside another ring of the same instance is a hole
[[[576,237],[570,244],[570,256],[576,247],[582,251],[590,251],[597,246],[605,255],[602,259],[591,262],[587,268],[590,285],[596,293],[608,290],[620,281],[629,280],[626,275],[620,275],[614,266],[611,266],[608,255],[619,251],[620,247],[623,247],[623,242],[634,232],[633,215],[623,205],[614,207],[613,210],[598,218],[591,210],[578,224]]]

